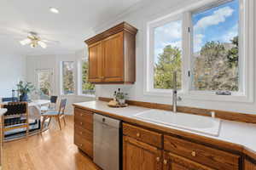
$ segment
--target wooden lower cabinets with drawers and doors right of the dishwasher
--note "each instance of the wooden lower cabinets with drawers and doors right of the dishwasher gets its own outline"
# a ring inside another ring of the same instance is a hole
[[[241,170],[240,162],[228,151],[123,123],[124,170]]]

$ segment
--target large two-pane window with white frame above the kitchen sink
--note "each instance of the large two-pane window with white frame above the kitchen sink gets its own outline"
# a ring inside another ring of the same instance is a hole
[[[144,92],[252,100],[253,0],[197,4],[147,23]]]

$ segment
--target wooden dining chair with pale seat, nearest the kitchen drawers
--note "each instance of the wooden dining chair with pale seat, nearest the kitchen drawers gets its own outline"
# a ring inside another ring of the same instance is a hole
[[[60,129],[61,129],[61,119],[62,118],[63,118],[64,125],[66,125],[65,114],[64,114],[66,105],[67,105],[67,99],[61,99],[59,111],[46,111],[46,112],[42,113],[43,122],[42,122],[42,126],[41,126],[41,133],[43,132],[43,129],[44,129],[44,122],[47,119],[49,119],[49,122],[50,122],[53,117],[55,118],[56,122],[58,122]]]

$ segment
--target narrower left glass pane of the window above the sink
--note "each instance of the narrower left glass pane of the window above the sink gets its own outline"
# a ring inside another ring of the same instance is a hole
[[[174,71],[182,88],[182,20],[154,28],[154,88],[172,89]]]

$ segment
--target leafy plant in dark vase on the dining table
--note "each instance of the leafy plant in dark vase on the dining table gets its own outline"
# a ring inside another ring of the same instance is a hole
[[[20,93],[20,101],[28,101],[27,94],[35,90],[34,86],[32,85],[32,82],[20,81],[17,84],[17,88],[18,88],[18,92]]]

